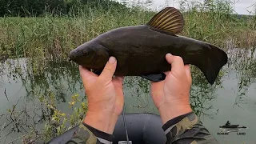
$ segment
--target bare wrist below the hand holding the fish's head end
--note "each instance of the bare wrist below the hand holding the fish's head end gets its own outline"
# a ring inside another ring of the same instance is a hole
[[[114,126],[117,121],[117,114],[87,111],[86,118],[83,122],[97,130],[105,132],[106,134],[113,134]]]

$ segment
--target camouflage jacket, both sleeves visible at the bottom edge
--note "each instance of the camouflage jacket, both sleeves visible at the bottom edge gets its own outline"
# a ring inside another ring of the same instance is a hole
[[[202,126],[202,122],[198,122],[194,112],[171,119],[162,126],[162,129],[166,134],[166,144],[218,143],[206,127]],[[110,134],[82,123],[77,133],[66,144],[111,144],[113,138]]]

